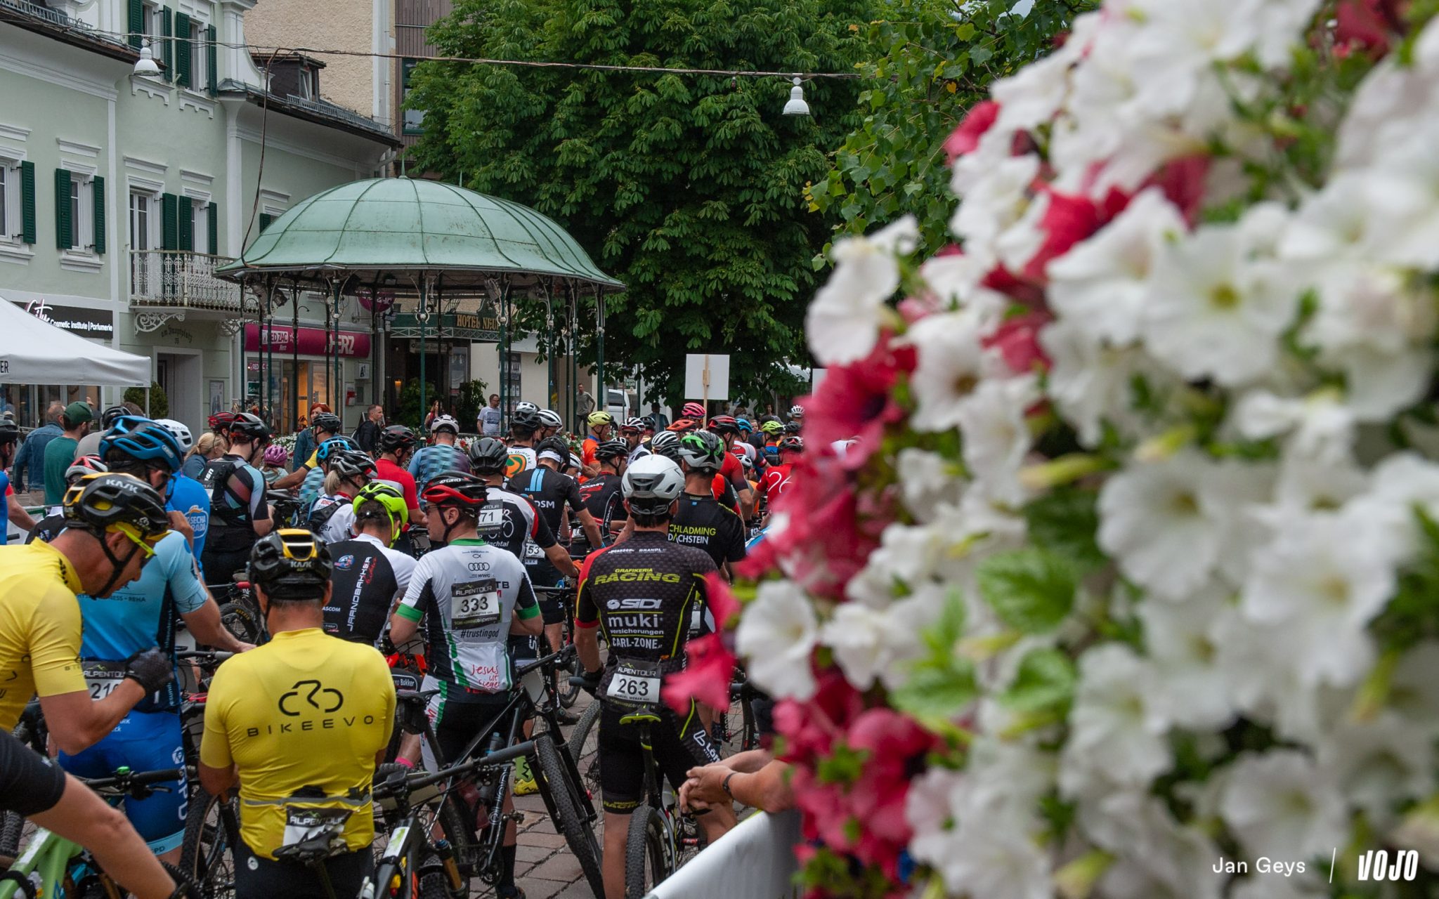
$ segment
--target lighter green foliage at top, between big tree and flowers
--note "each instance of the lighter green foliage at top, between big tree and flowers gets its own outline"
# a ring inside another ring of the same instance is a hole
[[[810,209],[837,213],[845,233],[863,233],[912,213],[920,253],[948,242],[954,210],[944,140],[989,85],[1053,46],[1075,14],[1095,0],[1035,0],[1027,16],[1012,0],[896,0],[868,26],[873,78],[859,95],[863,121],[810,186]],[[827,247],[826,247],[827,249]],[[823,256],[816,256],[816,266]]]

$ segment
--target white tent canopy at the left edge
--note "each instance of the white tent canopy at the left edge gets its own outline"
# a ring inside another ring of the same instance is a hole
[[[76,337],[0,299],[0,384],[148,387],[150,360]]]

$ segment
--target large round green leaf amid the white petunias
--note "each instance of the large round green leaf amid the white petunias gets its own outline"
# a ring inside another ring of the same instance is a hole
[[[1038,634],[1053,630],[1073,607],[1073,565],[1045,549],[1000,552],[980,562],[980,597],[1010,627]]]

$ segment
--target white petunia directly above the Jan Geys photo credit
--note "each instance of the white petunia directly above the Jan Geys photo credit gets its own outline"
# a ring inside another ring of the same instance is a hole
[[[1219,811],[1249,857],[1308,859],[1348,839],[1348,810],[1334,781],[1292,749],[1240,757]]]

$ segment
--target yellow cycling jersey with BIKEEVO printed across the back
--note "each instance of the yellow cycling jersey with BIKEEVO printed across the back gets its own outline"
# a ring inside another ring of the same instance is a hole
[[[275,634],[226,660],[204,705],[200,761],[240,777],[240,837],[255,854],[342,833],[350,850],[374,839],[374,757],[390,742],[394,682],[373,646],[321,629]]]

